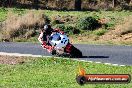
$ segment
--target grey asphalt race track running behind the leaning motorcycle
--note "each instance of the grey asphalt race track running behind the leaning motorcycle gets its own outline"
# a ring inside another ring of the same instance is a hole
[[[132,65],[132,46],[76,44],[83,53],[79,60]],[[0,42],[0,52],[51,56],[40,44]]]

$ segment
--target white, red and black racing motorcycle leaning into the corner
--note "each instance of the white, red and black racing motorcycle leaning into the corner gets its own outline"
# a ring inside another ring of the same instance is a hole
[[[49,38],[49,43],[54,47],[51,53],[52,55],[73,58],[82,57],[82,52],[69,42],[69,38],[65,34],[58,32],[52,33]]]

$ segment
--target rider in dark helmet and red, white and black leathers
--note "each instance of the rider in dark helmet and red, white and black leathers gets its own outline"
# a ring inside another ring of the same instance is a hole
[[[41,33],[38,37],[38,40],[39,42],[42,44],[42,47],[47,49],[50,53],[53,51],[54,47],[52,47],[50,44],[49,44],[49,38],[50,38],[50,35],[53,33],[53,32],[59,32],[61,34],[64,34],[63,31],[61,31],[60,29],[58,28],[55,28],[53,29],[50,25],[44,25],[44,27],[41,29]]]

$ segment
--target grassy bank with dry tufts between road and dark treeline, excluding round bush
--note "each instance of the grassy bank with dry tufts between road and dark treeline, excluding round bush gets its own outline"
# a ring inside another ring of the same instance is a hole
[[[30,11],[34,13],[29,14]],[[8,15],[11,17],[9,12],[14,15],[14,20],[9,18],[10,21],[8,22]],[[132,32],[130,20],[132,18],[132,12],[125,10],[91,12],[0,8],[0,41],[38,42],[37,37],[39,36],[40,26],[36,26],[36,23],[43,24],[43,21],[37,21],[40,17],[37,16],[38,13],[44,14],[47,17],[46,19],[51,21],[50,23],[53,27],[59,26],[67,31],[72,38],[70,39],[72,43],[132,45],[132,36],[130,34]],[[78,20],[89,16],[96,19],[99,18],[98,21],[102,25],[93,31],[84,31],[80,28],[77,29],[79,31],[75,31]],[[40,17],[39,20],[41,20],[41,18],[42,17]],[[30,21],[31,19],[32,21]],[[4,28],[1,24],[3,21],[8,22]],[[18,25],[16,25],[16,23],[18,23]],[[14,26],[12,26],[13,24]],[[15,28],[15,26],[18,28]]]

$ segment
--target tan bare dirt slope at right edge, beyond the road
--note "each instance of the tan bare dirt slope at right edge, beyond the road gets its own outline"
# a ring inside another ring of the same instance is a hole
[[[122,24],[116,25],[115,30],[110,30],[103,36],[102,41],[132,42],[132,16],[127,17]]]

